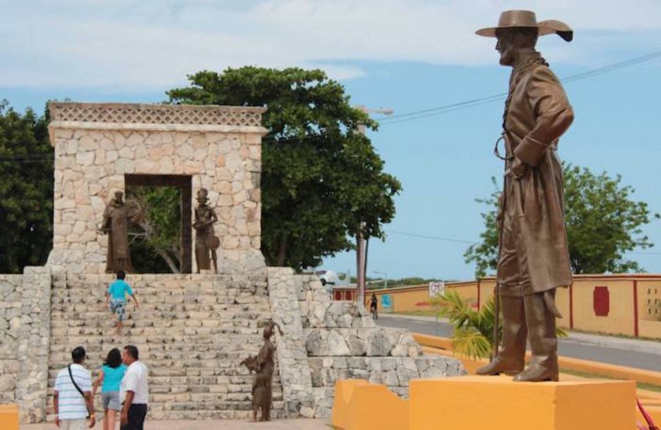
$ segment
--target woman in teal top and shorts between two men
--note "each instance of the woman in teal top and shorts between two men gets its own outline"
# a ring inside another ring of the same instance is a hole
[[[119,400],[119,386],[126,373],[126,365],[122,363],[122,354],[117,348],[108,352],[108,356],[94,381],[92,397],[96,395],[101,385],[101,402],[103,403],[103,430],[114,430],[117,412],[122,409]]]

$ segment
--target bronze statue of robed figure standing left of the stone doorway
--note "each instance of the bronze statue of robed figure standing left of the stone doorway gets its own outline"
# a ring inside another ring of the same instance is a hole
[[[120,270],[131,273],[131,253],[129,252],[129,208],[123,201],[124,193],[116,191],[114,199],[105,206],[101,232],[108,235],[108,253],[105,272]]]

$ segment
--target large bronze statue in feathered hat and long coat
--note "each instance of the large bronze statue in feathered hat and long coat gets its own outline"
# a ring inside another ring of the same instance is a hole
[[[558,380],[555,305],[571,284],[558,138],[574,120],[560,81],[535,50],[538,36],[573,32],[560,21],[536,21],[527,10],[501,14],[496,37],[501,65],[512,67],[503,114],[505,184],[499,214],[497,286],[503,304],[503,345],[478,374],[513,374],[517,381]],[[525,365],[526,338],[532,359]]]

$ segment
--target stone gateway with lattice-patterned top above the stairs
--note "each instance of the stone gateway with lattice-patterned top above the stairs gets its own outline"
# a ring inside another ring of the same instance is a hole
[[[103,273],[103,211],[125,175],[185,175],[209,190],[221,244],[219,272],[264,266],[261,126],[264,108],[50,103],[55,149],[54,238],[49,264]],[[193,217],[194,219],[194,217]],[[193,271],[195,271],[193,259]]]

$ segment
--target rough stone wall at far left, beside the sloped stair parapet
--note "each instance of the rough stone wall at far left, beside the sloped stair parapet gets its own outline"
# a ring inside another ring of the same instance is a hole
[[[23,275],[0,275],[0,404],[16,401]]]

